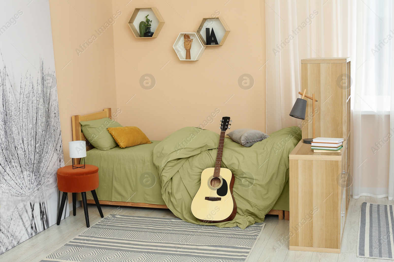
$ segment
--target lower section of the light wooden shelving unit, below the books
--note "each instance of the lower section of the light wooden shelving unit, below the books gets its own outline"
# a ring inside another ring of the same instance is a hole
[[[290,250],[340,253],[350,186],[344,142],[341,153],[314,153],[301,140],[290,153]]]

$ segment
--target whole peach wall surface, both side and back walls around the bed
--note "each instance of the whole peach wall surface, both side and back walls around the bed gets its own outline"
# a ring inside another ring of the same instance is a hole
[[[158,38],[136,39],[128,20],[134,8],[149,6],[158,8],[164,27]],[[95,32],[117,10],[115,24],[102,35]],[[184,126],[203,124],[218,132],[227,115],[233,129],[265,131],[264,2],[50,0],[50,11],[65,162],[71,115],[106,107],[120,108],[119,123],[138,126],[152,140]],[[231,30],[225,44],[206,48],[198,61],[180,61],[172,48],[178,34],[195,31],[203,17],[218,12]],[[93,34],[97,39],[82,50]],[[156,79],[151,90],[139,85],[145,73]],[[238,85],[244,73],[254,78],[250,90]],[[216,108],[220,113],[210,118]]]

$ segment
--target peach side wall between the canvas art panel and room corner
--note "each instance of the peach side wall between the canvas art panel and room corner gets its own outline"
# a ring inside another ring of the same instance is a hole
[[[50,13],[64,159],[70,165],[71,116],[116,108],[116,88],[113,26],[101,35],[95,32],[112,16],[111,2],[67,1],[51,0]],[[97,39],[81,49],[93,34]],[[77,48],[83,52],[77,53]]]

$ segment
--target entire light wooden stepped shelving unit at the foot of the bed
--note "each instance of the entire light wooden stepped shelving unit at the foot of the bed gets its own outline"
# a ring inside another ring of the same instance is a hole
[[[318,100],[316,137],[345,140],[340,153],[314,153],[302,140],[290,153],[290,250],[340,253],[350,198],[349,75],[349,57],[301,60],[301,89]],[[312,137],[311,118],[302,137]]]

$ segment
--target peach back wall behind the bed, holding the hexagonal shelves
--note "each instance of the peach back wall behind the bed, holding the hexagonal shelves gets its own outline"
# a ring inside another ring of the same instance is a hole
[[[220,113],[205,129],[218,132],[221,117],[230,116],[234,129],[265,131],[263,1],[128,2],[112,2],[113,10],[123,13],[114,26],[117,107],[122,110],[119,123],[138,126],[149,139],[161,140],[184,126],[204,123],[219,108]],[[164,27],[157,38],[137,39],[127,22],[134,8],[150,6],[158,8]],[[230,28],[225,44],[206,48],[198,61],[180,61],[172,48],[178,34],[195,31],[203,17],[217,12]],[[156,79],[151,90],[139,85],[145,73]],[[255,80],[250,90],[238,86],[243,73]]]

